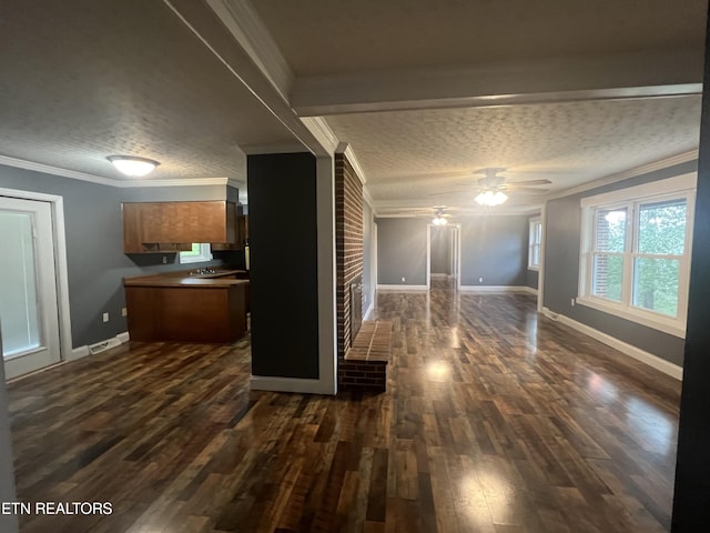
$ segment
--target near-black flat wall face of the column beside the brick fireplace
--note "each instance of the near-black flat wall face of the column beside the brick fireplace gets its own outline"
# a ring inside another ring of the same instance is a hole
[[[318,379],[316,159],[248,155],[254,376]]]

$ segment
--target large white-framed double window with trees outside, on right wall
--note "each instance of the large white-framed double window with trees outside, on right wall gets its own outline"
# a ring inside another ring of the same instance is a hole
[[[584,199],[584,305],[684,336],[694,174]]]

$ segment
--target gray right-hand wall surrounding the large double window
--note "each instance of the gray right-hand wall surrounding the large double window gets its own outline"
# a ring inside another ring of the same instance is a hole
[[[571,299],[578,295],[579,286],[580,200],[604,192],[696,172],[697,169],[698,162],[691,161],[584,193],[550,200],[547,204],[545,234],[544,305],[555,313],[569,316],[671,363],[682,364],[683,339],[580,304],[572,306]]]

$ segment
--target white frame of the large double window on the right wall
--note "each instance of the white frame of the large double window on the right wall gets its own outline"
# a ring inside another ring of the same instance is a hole
[[[682,174],[666,180],[619,191],[584,198],[581,208],[581,243],[579,257],[579,293],[576,302],[598,311],[653,328],[681,339],[686,338],[688,311],[688,285],[690,279],[690,258],[694,215],[696,183],[698,174]],[[632,304],[633,259],[645,257],[638,249],[638,210],[641,204],[684,199],[687,204],[686,242],[683,254],[671,257],[679,261],[678,273],[678,315],[668,316],[656,311]],[[627,209],[625,268],[622,275],[621,302],[592,294],[595,213],[598,210]]]

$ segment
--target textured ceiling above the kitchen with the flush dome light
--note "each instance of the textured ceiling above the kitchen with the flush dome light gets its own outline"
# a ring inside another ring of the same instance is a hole
[[[0,6],[0,153],[123,179],[105,157],[161,162],[151,179],[243,180],[239,145],[293,143],[163,2]]]

